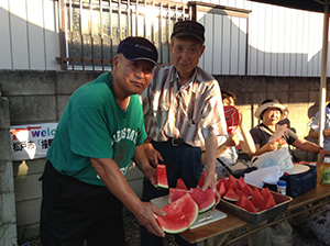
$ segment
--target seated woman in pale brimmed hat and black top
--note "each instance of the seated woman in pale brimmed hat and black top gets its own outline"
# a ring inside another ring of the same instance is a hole
[[[256,147],[256,152],[250,157],[276,150],[280,147],[275,142],[268,143],[268,139],[278,128],[278,121],[285,119],[287,114],[288,110],[277,99],[266,99],[262,102],[254,113],[254,116],[262,120],[262,123],[250,130]],[[321,146],[298,137],[289,128],[285,131],[282,138],[289,145],[302,150],[318,153],[322,157],[330,154],[329,150],[323,149]]]

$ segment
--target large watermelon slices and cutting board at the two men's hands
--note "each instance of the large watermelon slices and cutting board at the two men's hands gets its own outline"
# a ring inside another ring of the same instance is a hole
[[[155,187],[168,189],[165,167],[157,165]],[[166,233],[180,233],[227,217],[227,214],[213,209],[216,192],[212,189],[202,191],[206,172],[198,186],[188,189],[183,179],[177,180],[175,188],[169,188],[168,195],[152,199],[151,202],[162,208],[165,216],[155,215],[156,221]],[[217,177],[215,177],[217,180]]]

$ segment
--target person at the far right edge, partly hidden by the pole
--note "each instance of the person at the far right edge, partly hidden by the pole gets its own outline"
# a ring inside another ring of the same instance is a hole
[[[320,112],[317,112],[314,116],[312,122],[309,124],[309,138],[318,138],[319,137],[319,115]],[[327,150],[330,150],[330,102],[326,107],[326,122],[324,122],[324,130],[323,130],[323,147]]]

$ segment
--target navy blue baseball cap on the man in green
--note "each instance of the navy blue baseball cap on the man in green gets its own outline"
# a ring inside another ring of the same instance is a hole
[[[117,53],[123,54],[129,60],[145,59],[158,66],[158,52],[155,45],[141,36],[129,36],[120,42]]]

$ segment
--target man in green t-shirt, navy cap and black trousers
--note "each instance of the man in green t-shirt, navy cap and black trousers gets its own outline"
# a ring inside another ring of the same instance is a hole
[[[165,236],[154,217],[164,212],[142,202],[124,178],[133,159],[153,182],[139,93],[152,79],[157,51],[143,37],[128,37],[118,53],[112,72],[73,93],[47,152],[41,209],[45,246],[124,245],[122,204],[151,233]]]

